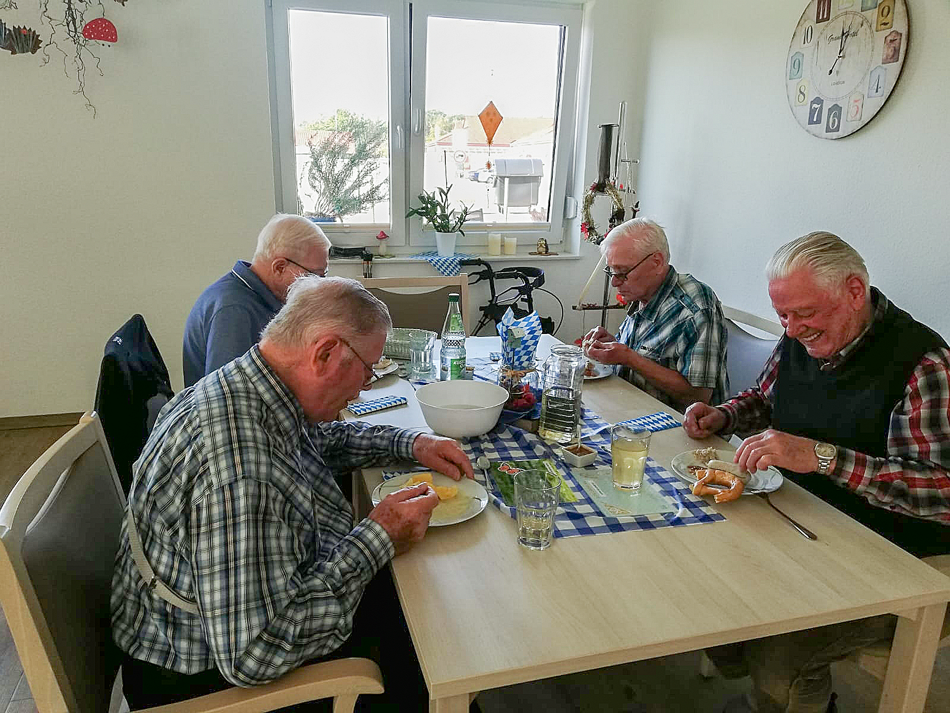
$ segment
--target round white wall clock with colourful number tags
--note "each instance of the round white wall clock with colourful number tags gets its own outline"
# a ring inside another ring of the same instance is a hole
[[[909,29],[904,0],[811,0],[788,46],[795,120],[821,139],[870,122],[901,76]]]

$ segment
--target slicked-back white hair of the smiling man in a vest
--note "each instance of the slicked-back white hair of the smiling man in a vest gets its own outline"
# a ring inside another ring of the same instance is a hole
[[[845,280],[857,275],[864,280],[865,296],[870,293],[870,277],[864,258],[833,233],[815,231],[783,245],[766,265],[766,279],[771,282],[788,277],[803,268],[810,270],[815,282],[826,290],[842,290]]]

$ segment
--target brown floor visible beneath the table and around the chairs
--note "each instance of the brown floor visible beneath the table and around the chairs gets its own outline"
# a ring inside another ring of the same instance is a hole
[[[0,502],[29,464],[68,426],[0,430]],[[840,713],[873,713],[881,682],[850,663],[833,666]],[[698,652],[665,656],[533,684],[485,691],[484,713],[719,713],[748,681],[703,679]],[[29,686],[0,612],[0,713],[34,713]],[[925,713],[950,713],[950,647],[940,650]]]

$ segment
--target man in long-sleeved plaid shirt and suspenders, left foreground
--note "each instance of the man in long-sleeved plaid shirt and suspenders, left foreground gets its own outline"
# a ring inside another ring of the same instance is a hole
[[[456,441],[334,421],[375,380],[390,325],[359,283],[300,277],[259,345],[162,409],[135,464],[113,576],[132,709],[373,652],[392,701],[380,709],[405,696],[426,705],[385,568],[425,534],[438,497],[407,488],[354,523],[334,479],[387,459],[472,477]],[[159,586],[145,581],[130,527]]]

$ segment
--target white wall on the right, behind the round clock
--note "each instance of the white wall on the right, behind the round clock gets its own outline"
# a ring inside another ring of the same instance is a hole
[[[910,44],[878,115],[838,141],[788,109],[784,68],[805,0],[656,4],[640,189],[674,262],[723,303],[774,319],[762,271],[813,230],[864,255],[873,284],[950,337],[950,5],[907,0]]]

